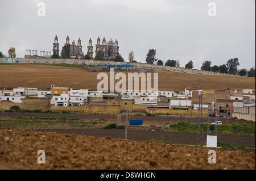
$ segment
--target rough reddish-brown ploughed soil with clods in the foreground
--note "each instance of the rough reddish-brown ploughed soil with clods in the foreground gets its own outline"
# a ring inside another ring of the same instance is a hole
[[[46,153],[45,164],[38,163],[39,150]],[[109,136],[0,129],[0,169],[255,170],[254,153],[214,149],[216,163],[210,164],[209,150]]]

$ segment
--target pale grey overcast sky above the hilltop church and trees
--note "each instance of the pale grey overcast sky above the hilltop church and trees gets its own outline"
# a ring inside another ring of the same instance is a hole
[[[43,2],[45,16],[42,12]],[[216,5],[216,14],[214,6]],[[119,53],[128,61],[145,62],[149,49],[166,62],[192,60],[200,69],[206,60],[225,64],[238,57],[240,69],[255,66],[255,0],[0,0],[0,52],[15,47],[51,51],[55,35],[60,50],[67,35],[81,39],[87,52],[90,38],[118,40]],[[40,14],[40,13],[39,13]],[[213,16],[210,16],[213,15]]]

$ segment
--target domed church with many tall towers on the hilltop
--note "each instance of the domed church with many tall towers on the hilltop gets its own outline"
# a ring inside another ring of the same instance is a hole
[[[72,59],[78,58],[83,59],[85,54],[82,52],[82,45],[81,45],[81,39],[79,38],[77,40],[77,45],[75,43],[75,40],[72,41],[72,45],[69,43],[69,37],[66,38],[65,45],[70,45],[70,56]],[[59,54],[59,43],[58,43],[58,37],[55,36],[54,43],[53,43],[53,54]],[[110,58],[115,58],[119,54],[119,47],[118,47],[118,41],[113,41],[110,39],[108,42],[106,42],[105,37],[101,39],[98,37],[97,44],[96,44],[96,50],[94,57],[97,56],[98,53],[101,53],[101,56],[103,60],[108,60]],[[92,39],[89,39],[89,45],[87,46],[87,54],[90,56],[90,58],[93,60],[93,45],[92,45]]]

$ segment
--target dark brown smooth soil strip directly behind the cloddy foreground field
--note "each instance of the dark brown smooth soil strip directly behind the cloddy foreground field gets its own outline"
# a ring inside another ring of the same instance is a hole
[[[38,131],[48,131],[65,134],[78,134],[96,137],[125,138],[125,129],[95,129],[95,128],[78,128],[78,129],[36,129]],[[161,131],[128,129],[127,139],[134,141],[162,140]],[[197,133],[163,131],[163,141],[175,144],[197,144]],[[218,134],[217,141],[225,144],[236,146],[255,146],[255,136]],[[203,143],[207,142],[207,133],[203,134]]]

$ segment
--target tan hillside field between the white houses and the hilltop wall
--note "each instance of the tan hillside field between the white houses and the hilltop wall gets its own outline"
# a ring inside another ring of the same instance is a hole
[[[228,87],[231,90],[255,89],[255,79],[253,78],[194,75],[171,71],[156,72],[159,77],[159,90],[184,91],[185,88],[224,90]],[[24,87],[26,83],[27,87],[42,89],[49,89],[51,85],[55,85],[73,89],[96,90],[97,83],[100,82],[97,80],[97,74],[63,66],[0,64],[0,87]]]

